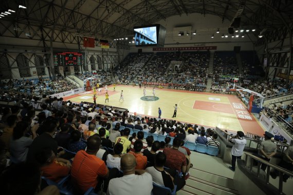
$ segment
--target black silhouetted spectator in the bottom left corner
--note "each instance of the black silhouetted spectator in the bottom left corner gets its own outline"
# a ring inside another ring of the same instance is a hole
[[[2,194],[49,195],[59,194],[57,186],[41,189],[41,170],[34,163],[11,165],[0,175]]]

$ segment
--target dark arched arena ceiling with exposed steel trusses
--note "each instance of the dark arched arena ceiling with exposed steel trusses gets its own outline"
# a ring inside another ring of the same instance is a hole
[[[291,26],[293,20],[290,0],[2,0],[0,11],[8,9],[16,12],[0,18],[1,36],[7,31],[17,36],[15,29],[20,28],[36,34],[50,29],[115,38],[132,34],[134,26],[191,13],[212,14],[229,22],[240,16],[241,26],[268,31]]]

